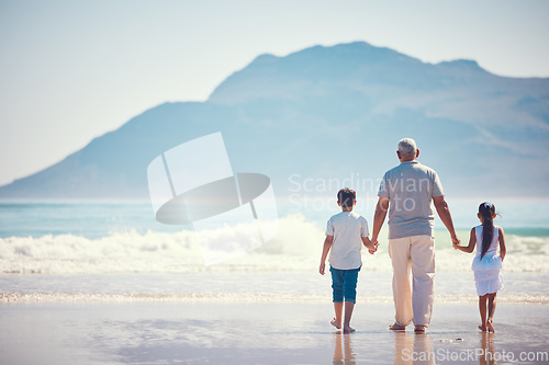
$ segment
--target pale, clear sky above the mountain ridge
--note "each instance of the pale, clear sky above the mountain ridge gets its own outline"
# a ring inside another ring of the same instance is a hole
[[[261,54],[365,41],[425,62],[549,77],[545,0],[0,0],[0,185]]]

